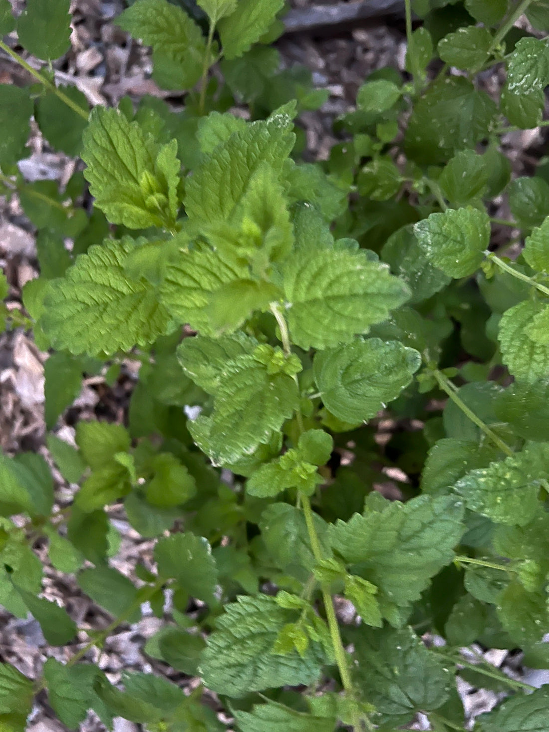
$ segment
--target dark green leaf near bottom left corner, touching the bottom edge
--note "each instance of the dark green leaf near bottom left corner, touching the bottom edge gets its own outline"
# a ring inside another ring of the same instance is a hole
[[[78,729],[86,719],[88,709],[94,709],[105,723],[112,721],[105,706],[94,692],[94,681],[102,672],[97,666],[79,663],[63,665],[54,658],[44,664],[44,679],[48,701],[61,722],[70,729]]]

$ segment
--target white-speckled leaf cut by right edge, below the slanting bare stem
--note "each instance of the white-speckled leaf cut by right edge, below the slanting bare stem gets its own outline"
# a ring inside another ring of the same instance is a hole
[[[547,479],[549,446],[534,443],[505,460],[477,468],[458,480],[454,490],[471,511],[496,523],[523,526],[537,511],[539,485]]]

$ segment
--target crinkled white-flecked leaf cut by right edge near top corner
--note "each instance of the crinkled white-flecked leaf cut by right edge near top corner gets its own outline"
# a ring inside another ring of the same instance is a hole
[[[545,40],[521,38],[509,59],[507,86],[515,94],[529,94],[549,84],[549,46]]]

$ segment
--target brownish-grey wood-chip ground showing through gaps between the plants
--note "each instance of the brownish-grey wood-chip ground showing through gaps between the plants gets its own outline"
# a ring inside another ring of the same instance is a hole
[[[322,4],[319,0],[317,3]],[[12,0],[12,4],[16,9],[22,5],[20,0]],[[306,10],[310,3],[307,0],[294,0],[293,5]],[[126,94],[135,98],[143,94],[166,96],[150,78],[152,67],[149,52],[130,41],[127,34],[113,23],[122,7],[121,0],[72,2],[72,49],[66,59],[54,64],[56,80],[74,84],[92,105],[116,105]],[[373,25],[338,30],[337,34],[286,34],[277,42],[277,47],[282,53],[284,64],[305,64],[313,72],[315,86],[329,90],[328,100],[320,111],[302,115],[310,155],[322,160],[337,142],[332,133],[332,122],[352,108],[356,90],[365,77],[374,69],[386,65],[403,69],[406,36],[403,24],[398,20],[392,20],[390,25],[380,20]],[[32,59],[29,61],[34,63]],[[27,81],[26,72],[0,52],[0,83],[22,84]],[[496,80],[488,75],[483,83],[490,90],[490,87],[494,88]],[[542,143],[539,135],[537,130],[517,132],[507,135],[504,140],[518,173],[535,165]],[[47,143],[34,129],[29,141],[29,157],[21,162],[20,169],[29,181],[51,179],[62,185],[78,164],[64,154],[48,149]],[[508,217],[509,212],[505,210],[503,201],[496,215]],[[17,307],[21,288],[38,275],[35,233],[23,214],[17,196],[13,196],[9,202],[0,199],[0,266],[10,283],[10,307]],[[48,354],[37,349],[28,332],[16,330],[0,335],[0,448],[4,452],[38,451],[48,458],[44,447],[43,409],[43,365],[47,357]],[[101,376],[87,380],[65,419],[59,420],[57,434],[67,441],[73,441],[72,425],[77,419],[93,419],[100,415],[102,419],[122,421],[135,377],[135,365],[128,362],[112,387]],[[62,506],[70,501],[72,489],[59,474],[56,474],[56,480],[56,495]],[[131,575],[137,559],[146,559],[150,555],[151,542],[140,539],[116,507],[111,511],[111,518],[122,537],[121,550],[113,560],[113,566]],[[40,546],[37,546],[37,552],[44,553]],[[45,576],[46,596],[59,597],[67,603],[79,626],[101,628],[108,624],[108,615],[83,596],[70,578],[59,575],[51,568],[46,569]],[[105,644],[103,651],[100,654],[93,651],[90,658],[99,663],[111,681],[118,681],[123,669],[139,669],[163,673],[185,687],[195,687],[198,679],[190,679],[163,663],[153,664],[141,654],[146,638],[154,635],[160,624],[161,621],[145,608],[143,619],[138,624],[120,627]],[[477,651],[482,652],[481,649]],[[0,610],[0,660],[12,662],[20,671],[32,677],[40,674],[42,663],[48,656],[67,660],[69,655],[66,649],[48,647],[40,626],[33,619],[13,619]],[[505,665],[512,675],[524,678],[520,657],[510,657],[506,651],[488,651],[486,655],[496,665]],[[549,678],[545,681],[549,681]],[[460,691],[469,717],[490,709],[498,700],[498,695],[475,690],[464,682]],[[53,716],[42,692],[31,714],[29,731],[64,730],[64,726],[56,722]],[[425,720],[417,720],[414,728],[425,729]],[[91,714],[81,725],[81,730],[102,732],[104,728]],[[117,720],[115,730],[137,732],[138,725]]]

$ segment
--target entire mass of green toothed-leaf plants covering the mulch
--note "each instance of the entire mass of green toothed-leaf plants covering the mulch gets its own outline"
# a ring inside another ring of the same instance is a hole
[[[0,165],[41,271],[25,310],[0,313],[51,349],[47,445],[74,488],[54,507],[40,455],[0,458],[0,603],[66,648],[37,679],[0,665],[2,731],[23,731],[43,690],[70,729],[92,709],[107,728],[221,731],[203,688],[242,732],[391,731],[417,712],[461,730],[456,676],[506,692],[478,732],[546,728],[548,687],[460,648],[549,663],[549,173],[513,177],[501,152],[501,135],[545,124],[549,6],[405,5],[406,73],[367,78],[311,164],[299,113],[326,97],[279,70],[282,0],[135,0],[116,19],[182,113],[153,97],[90,112],[53,79],[70,1],[27,0],[18,18],[0,1],[2,34],[48,61],[37,72],[0,42],[35,81],[0,85]],[[18,171],[32,117],[83,161],[63,190]],[[490,215],[502,196],[512,220]],[[496,250],[494,226],[514,235]],[[128,356],[125,424],[62,441],[83,376],[112,384]],[[375,490],[387,471],[402,500]],[[110,561],[122,504],[155,539],[131,579]],[[108,627],[42,597],[37,542]],[[89,661],[147,602],[164,624],[144,652],[200,676],[190,695],[152,673],[113,685]]]

